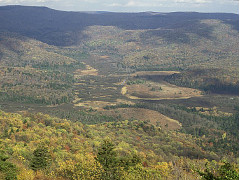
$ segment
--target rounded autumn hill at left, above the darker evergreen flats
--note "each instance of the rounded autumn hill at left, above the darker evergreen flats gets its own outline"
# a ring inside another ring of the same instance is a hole
[[[74,62],[74,59],[55,53],[53,46],[17,34],[0,33],[1,65],[25,67]]]

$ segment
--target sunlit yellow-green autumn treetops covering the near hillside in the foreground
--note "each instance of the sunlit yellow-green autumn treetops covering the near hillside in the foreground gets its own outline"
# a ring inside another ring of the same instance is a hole
[[[3,111],[0,121],[2,179],[199,179],[193,167],[203,171],[216,157],[192,136],[147,122],[83,125],[41,113]]]

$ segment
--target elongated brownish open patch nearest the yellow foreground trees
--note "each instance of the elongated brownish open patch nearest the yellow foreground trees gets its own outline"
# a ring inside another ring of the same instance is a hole
[[[163,129],[176,130],[181,128],[181,123],[171,119],[163,114],[143,108],[118,108],[114,110],[103,111],[106,115],[121,116],[124,119],[136,119],[140,121],[149,121],[154,125],[161,126]]]

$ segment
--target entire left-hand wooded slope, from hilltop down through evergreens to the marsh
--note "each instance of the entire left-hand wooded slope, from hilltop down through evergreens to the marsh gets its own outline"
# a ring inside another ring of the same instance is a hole
[[[84,68],[76,59],[40,41],[0,33],[0,99],[58,104],[73,97],[72,72]]]

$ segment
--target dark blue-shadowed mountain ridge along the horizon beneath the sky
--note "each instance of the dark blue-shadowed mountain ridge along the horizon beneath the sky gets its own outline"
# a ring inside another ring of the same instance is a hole
[[[230,13],[92,13],[57,11],[47,7],[0,7],[0,31],[20,33],[57,46],[79,43],[84,38],[81,32],[93,25],[116,26],[125,30],[183,28],[186,32],[193,32],[203,19],[221,20],[238,29],[238,15]],[[202,29],[210,32],[207,27]]]

